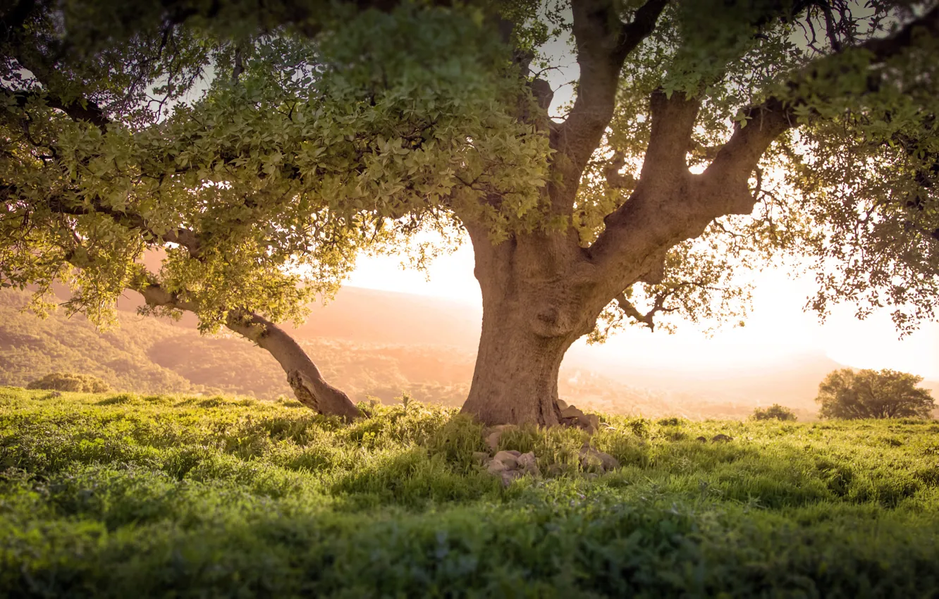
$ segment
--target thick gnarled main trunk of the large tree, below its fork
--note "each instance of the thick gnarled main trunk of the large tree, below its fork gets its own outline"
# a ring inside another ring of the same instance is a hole
[[[563,234],[493,246],[484,231],[468,229],[483,331],[463,412],[487,424],[557,424],[564,353],[593,330],[603,307],[582,277],[585,258]]]

